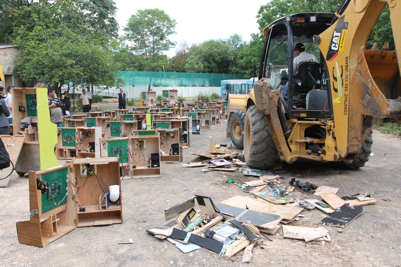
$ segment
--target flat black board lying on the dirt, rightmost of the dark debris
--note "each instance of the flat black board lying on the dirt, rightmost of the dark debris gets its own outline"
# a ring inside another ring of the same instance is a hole
[[[326,225],[344,228],[348,223],[352,222],[352,220],[362,214],[362,212],[362,207],[350,207],[350,205],[346,203],[338,210],[335,210],[333,213],[326,216],[326,218],[321,220],[321,222]]]

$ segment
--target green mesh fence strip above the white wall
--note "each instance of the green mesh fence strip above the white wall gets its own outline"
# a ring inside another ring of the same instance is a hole
[[[220,82],[229,79],[244,79],[240,74],[182,73],[163,71],[121,71],[126,85],[153,86],[220,86]]]

